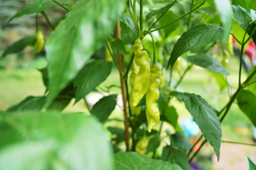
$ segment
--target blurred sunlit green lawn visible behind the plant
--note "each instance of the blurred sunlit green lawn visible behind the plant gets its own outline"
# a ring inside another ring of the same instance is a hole
[[[230,72],[228,81],[234,88],[236,88],[238,85],[238,69],[234,69],[234,67],[239,67],[237,59],[231,60],[229,68],[227,68],[227,71]],[[177,77],[177,75],[175,77]],[[245,79],[246,73],[243,72],[242,80]],[[6,110],[8,107],[19,103],[29,95],[44,95],[45,87],[41,80],[41,74],[36,69],[0,70],[0,80],[0,110]],[[106,89],[107,86],[112,84],[120,86],[119,73],[115,68],[112,69],[111,75],[100,85],[100,87]],[[225,89],[220,92],[219,87],[215,80],[211,78],[210,74],[205,69],[196,66],[187,73],[178,90],[201,95],[217,110],[220,110],[225,106],[229,100],[227,90]],[[113,87],[110,91],[121,92],[118,87]],[[65,111],[87,112],[83,100],[79,101],[74,106],[73,102],[74,101],[69,104]],[[186,117],[190,116],[183,103],[180,103],[177,100],[172,100],[171,103],[177,109],[179,123],[182,123]],[[122,115],[121,109],[117,106],[111,117],[123,117]],[[238,124],[244,124],[247,127],[251,126],[249,119],[239,110],[236,104],[233,104],[222,124],[222,129],[225,133],[223,136],[233,137],[234,135],[230,134]],[[239,135],[237,137],[239,137]]]

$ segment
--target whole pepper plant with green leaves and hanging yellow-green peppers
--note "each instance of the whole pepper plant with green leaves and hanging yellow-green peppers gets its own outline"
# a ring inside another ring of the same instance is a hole
[[[66,10],[55,24],[45,12],[53,6]],[[26,46],[34,46],[35,53],[44,46],[47,67],[40,72],[46,91],[0,112],[0,169],[189,170],[189,163],[207,142],[219,161],[220,124],[232,104],[237,103],[256,126],[256,68],[251,69],[245,81],[241,80],[244,48],[251,38],[256,42],[256,22],[250,9],[256,10],[255,1],[28,3],[8,23],[36,14],[35,36],[10,45],[0,59],[20,53]],[[38,15],[51,28],[46,40],[38,26]],[[222,109],[212,107],[199,95],[177,90],[193,66],[202,67],[205,74],[226,82],[221,88],[229,90],[225,66],[232,54],[232,36],[241,51],[236,68],[239,81]],[[214,55],[216,49],[221,51],[221,58]],[[179,67],[181,58],[185,69]],[[92,108],[85,98],[90,92],[102,93],[116,86],[99,88],[111,74],[112,64],[120,73],[116,79],[121,82],[123,119],[108,119],[117,104],[118,93],[105,95]],[[179,73],[179,79],[174,72]],[[74,103],[84,100],[88,112],[61,112],[73,98]],[[201,130],[193,146],[177,123],[179,113],[172,100],[185,104]],[[113,126],[117,122],[123,122],[124,128]],[[163,131],[164,122],[175,132]],[[164,147],[160,146],[163,135],[170,141]],[[200,141],[201,146],[193,153]],[[250,169],[256,169],[248,160]]]

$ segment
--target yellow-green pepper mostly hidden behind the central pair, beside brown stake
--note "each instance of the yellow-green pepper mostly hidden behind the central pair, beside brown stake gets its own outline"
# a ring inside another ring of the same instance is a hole
[[[136,62],[133,60],[132,73],[131,73],[131,75],[130,75],[130,86],[131,86],[132,89],[133,89],[133,87],[134,87],[134,79],[135,79],[135,76],[138,74],[139,70],[140,70],[140,66],[138,66],[138,65],[136,64]],[[132,93],[130,93],[129,103],[132,103],[132,101],[133,101],[133,99],[132,99]],[[130,108],[131,108],[132,112],[133,112],[136,116],[140,115],[140,113],[141,113],[141,107],[134,107],[134,106],[130,105]]]

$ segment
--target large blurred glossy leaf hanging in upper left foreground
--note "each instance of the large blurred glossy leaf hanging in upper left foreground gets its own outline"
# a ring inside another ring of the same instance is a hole
[[[51,33],[45,45],[50,83],[46,108],[105,44],[124,6],[125,0],[77,1]]]

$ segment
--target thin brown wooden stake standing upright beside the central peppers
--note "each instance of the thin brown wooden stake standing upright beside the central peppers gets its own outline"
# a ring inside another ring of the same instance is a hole
[[[120,30],[120,21],[118,20],[115,26],[115,37],[119,38],[121,40],[121,30]],[[118,65],[121,71],[123,71],[123,59],[122,54],[120,51],[117,52],[117,58],[118,58]],[[129,121],[127,117],[127,100],[126,100],[126,86],[125,81],[123,79],[122,74],[120,73],[120,80],[121,80],[121,88],[122,88],[122,98],[123,98],[123,108],[124,108],[124,136],[125,136],[125,145],[126,145],[126,151],[129,151]],[[128,94],[127,94],[128,95]]]

